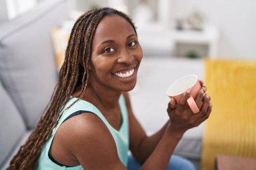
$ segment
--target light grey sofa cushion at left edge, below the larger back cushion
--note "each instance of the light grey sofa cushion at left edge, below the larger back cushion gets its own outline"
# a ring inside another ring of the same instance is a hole
[[[26,131],[24,121],[0,82],[0,167]]]

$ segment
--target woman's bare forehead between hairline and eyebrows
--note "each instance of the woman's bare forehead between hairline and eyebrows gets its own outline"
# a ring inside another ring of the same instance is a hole
[[[119,15],[107,15],[96,28],[94,42],[101,42],[106,39],[112,40],[117,36],[126,37],[128,34],[135,34],[135,31],[125,18]]]

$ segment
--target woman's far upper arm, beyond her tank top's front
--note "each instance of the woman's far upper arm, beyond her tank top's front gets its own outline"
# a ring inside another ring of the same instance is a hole
[[[139,153],[141,151],[139,151],[139,147],[141,146],[143,140],[147,138],[147,135],[133,114],[128,93],[123,93],[123,95],[127,104],[127,112],[129,117],[130,150],[131,153],[133,153],[133,156],[140,161]]]

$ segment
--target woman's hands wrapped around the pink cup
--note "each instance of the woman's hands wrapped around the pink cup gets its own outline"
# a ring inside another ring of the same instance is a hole
[[[185,95],[181,98],[181,101],[177,104],[172,98],[168,103],[168,116],[170,118],[170,128],[179,134],[183,134],[189,128],[199,126],[201,122],[209,118],[212,112],[212,104],[210,103],[210,96],[205,93],[206,87],[203,85],[203,81],[200,81],[201,89],[195,99],[199,113],[194,114],[192,110],[187,107],[187,99],[190,96],[190,89],[187,89]]]

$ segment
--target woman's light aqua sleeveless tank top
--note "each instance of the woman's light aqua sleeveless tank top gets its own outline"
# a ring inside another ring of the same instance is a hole
[[[75,101],[77,98],[73,97],[69,99],[67,104],[64,107],[67,108],[73,101]],[[121,108],[121,116],[122,116],[122,124],[119,130],[116,130],[111,126],[106,118],[103,116],[103,114],[96,108],[92,103],[89,103],[88,101],[84,101],[82,99],[79,99],[74,103],[69,109],[65,110],[63,112],[63,115],[61,116],[57,126],[53,129],[53,133],[51,134],[51,138],[44,144],[42,148],[42,153],[40,155],[39,161],[38,161],[38,170],[46,169],[46,170],[63,170],[63,169],[68,169],[68,170],[78,170],[78,169],[83,169],[81,165],[77,165],[75,167],[65,167],[58,165],[57,163],[53,162],[49,158],[49,150],[51,147],[51,144],[53,142],[53,137],[55,136],[55,133],[57,132],[57,129],[59,126],[63,123],[63,121],[70,116],[71,114],[78,112],[78,111],[87,111],[87,112],[92,112],[96,114],[103,122],[104,124],[108,127],[108,130],[112,134],[113,138],[115,139],[115,144],[117,146],[117,153],[119,155],[119,158],[123,165],[127,167],[128,163],[128,150],[129,150],[129,124],[128,124],[128,116],[127,116],[127,107],[125,103],[125,97],[123,95],[120,96],[119,98],[119,106]],[[86,114],[86,113],[85,113]]]

